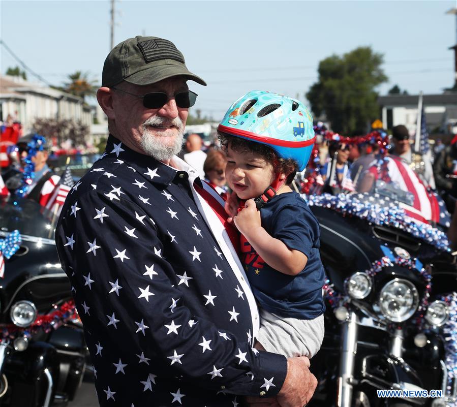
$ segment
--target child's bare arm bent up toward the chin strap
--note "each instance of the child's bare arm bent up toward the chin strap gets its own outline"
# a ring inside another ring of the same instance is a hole
[[[254,200],[247,201],[246,207],[233,218],[233,221],[270,267],[284,274],[296,275],[306,266],[308,257],[298,250],[289,249],[281,240],[271,237],[262,228],[260,212]]]

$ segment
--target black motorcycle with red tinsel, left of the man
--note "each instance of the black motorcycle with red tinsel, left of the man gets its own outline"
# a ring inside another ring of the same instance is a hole
[[[86,369],[82,325],[55,249],[55,222],[30,199],[13,195],[0,203],[0,240],[20,233],[0,280],[0,405],[72,400]]]

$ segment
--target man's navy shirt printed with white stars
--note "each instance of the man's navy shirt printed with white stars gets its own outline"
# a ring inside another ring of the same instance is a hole
[[[251,348],[252,292],[195,177],[110,136],[60,214],[57,250],[102,406],[236,407],[283,385],[286,358]]]

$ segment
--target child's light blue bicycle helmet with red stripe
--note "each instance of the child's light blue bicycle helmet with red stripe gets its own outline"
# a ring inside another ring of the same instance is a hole
[[[266,90],[252,90],[225,113],[218,131],[265,144],[303,171],[315,141],[313,118],[300,101]]]

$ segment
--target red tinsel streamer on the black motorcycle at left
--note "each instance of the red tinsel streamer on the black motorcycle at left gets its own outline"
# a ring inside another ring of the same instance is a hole
[[[75,302],[70,300],[60,306],[54,305],[53,310],[49,314],[38,315],[35,322],[26,328],[20,328],[13,324],[3,325],[2,338],[14,339],[18,336],[31,338],[32,335],[39,331],[48,333],[77,317]]]

